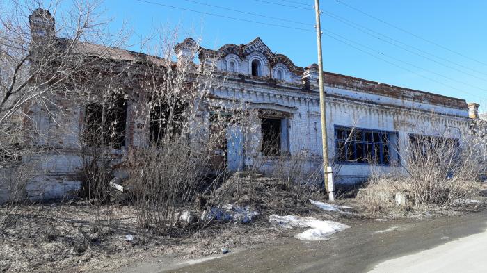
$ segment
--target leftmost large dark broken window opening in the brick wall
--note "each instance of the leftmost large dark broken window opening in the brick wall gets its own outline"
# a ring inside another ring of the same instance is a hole
[[[85,109],[83,140],[89,147],[125,147],[127,100],[115,98],[111,103],[88,104]]]

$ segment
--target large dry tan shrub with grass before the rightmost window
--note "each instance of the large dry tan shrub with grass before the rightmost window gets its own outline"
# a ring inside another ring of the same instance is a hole
[[[373,175],[358,199],[373,207],[387,206],[401,192],[413,206],[451,208],[476,192],[485,172],[485,144],[474,135],[459,139],[449,134],[410,135],[401,154],[404,172]]]

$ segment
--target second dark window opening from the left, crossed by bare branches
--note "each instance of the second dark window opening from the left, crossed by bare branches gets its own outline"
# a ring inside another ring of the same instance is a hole
[[[160,105],[152,107],[150,111],[151,143],[160,146],[166,140],[175,140],[182,133],[184,122],[184,104],[176,103],[173,106]]]

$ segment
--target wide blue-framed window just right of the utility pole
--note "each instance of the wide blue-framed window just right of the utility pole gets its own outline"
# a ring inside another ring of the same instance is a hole
[[[335,126],[337,161],[374,165],[399,163],[397,140],[397,132]]]

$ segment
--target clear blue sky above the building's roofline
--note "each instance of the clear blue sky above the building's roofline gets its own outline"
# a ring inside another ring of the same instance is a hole
[[[313,32],[314,11],[310,10],[314,0],[193,0],[303,24],[246,15],[189,0],[147,1],[199,10],[202,13],[305,28],[309,31],[242,22],[138,0],[105,0],[103,6],[114,19],[114,28],[125,21],[137,35],[147,35],[154,26],[161,24],[179,25],[189,33],[195,29],[196,35],[203,39],[202,45],[210,48],[218,48],[228,43],[244,44],[260,36],[272,51],[287,55],[298,66],[317,63],[316,35]],[[341,39],[358,42],[354,44],[348,41],[353,45],[350,47],[324,35],[326,71],[459,97],[468,102],[478,102],[482,104],[481,112],[487,111],[487,1],[342,0],[340,3],[335,0],[321,0],[321,9],[328,13],[321,16],[325,33],[332,31],[341,35]],[[358,26],[354,25],[354,28],[344,24],[329,14]],[[360,27],[375,37],[359,31],[357,28]],[[389,41],[399,47],[383,42],[388,38],[381,35],[394,39]],[[417,36],[439,44],[440,47]],[[136,35],[133,39],[133,42],[137,41]]]

